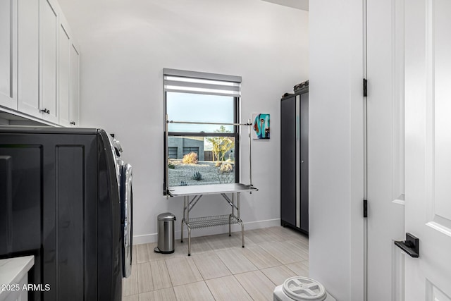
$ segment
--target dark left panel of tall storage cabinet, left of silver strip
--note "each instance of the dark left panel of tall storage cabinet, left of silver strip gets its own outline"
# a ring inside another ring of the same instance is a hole
[[[296,225],[296,101],[280,102],[280,219]]]

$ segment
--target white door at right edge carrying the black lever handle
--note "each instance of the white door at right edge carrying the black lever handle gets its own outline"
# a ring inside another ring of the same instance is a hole
[[[405,8],[405,300],[451,300],[451,1]]]

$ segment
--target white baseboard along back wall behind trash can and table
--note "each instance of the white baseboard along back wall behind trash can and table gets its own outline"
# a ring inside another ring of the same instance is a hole
[[[274,226],[280,226],[280,219],[268,219],[266,221],[250,221],[248,223],[245,223],[245,230],[253,230],[253,229],[260,229],[260,228],[268,228],[268,227],[274,227]],[[186,226],[184,237],[187,238],[187,231]],[[232,225],[232,232],[238,232],[241,231],[240,225]],[[180,226],[178,229],[175,229],[175,239],[180,239]],[[212,227],[212,228],[202,228],[202,229],[194,229],[191,232],[191,237],[195,238],[197,236],[206,236],[206,235],[215,235],[215,234],[223,234],[228,233],[228,226],[219,226],[219,227]],[[143,243],[150,243],[150,242],[156,242],[158,240],[158,233],[152,233],[152,234],[145,234],[145,235],[135,235],[133,236],[133,245],[141,245]]]

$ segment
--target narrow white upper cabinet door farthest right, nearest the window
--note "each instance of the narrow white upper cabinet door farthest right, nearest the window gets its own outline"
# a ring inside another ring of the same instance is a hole
[[[80,54],[75,45],[70,47],[69,120],[71,125],[80,122]]]

